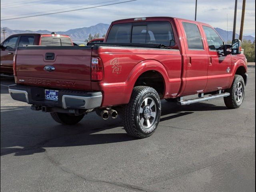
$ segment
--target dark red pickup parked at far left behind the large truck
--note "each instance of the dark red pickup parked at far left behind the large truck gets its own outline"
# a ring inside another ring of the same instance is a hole
[[[6,38],[1,45],[1,66],[0,73],[12,75],[13,56],[18,46],[43,45],[43,46],[72,46],[70,36],[52,34],[23,33],[14,34]]]

